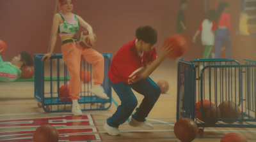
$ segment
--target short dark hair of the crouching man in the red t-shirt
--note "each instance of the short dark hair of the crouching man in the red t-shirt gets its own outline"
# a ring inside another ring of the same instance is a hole
[[[136,38],[145,43],[155,44],[157,42],[157,32],[150,26],[139,27],[136,30]]]

